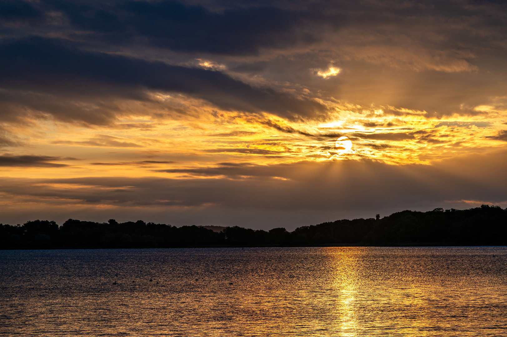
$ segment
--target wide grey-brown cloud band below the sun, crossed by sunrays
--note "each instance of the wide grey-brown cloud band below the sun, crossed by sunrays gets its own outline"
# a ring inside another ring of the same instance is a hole
[[[507,174],[502,168],[504,158],[507,156],[501,157],[500,153],[463,156],[433,166],[395,166],[369,160],[341,160],[168,170],[252,177],[243,180],[83,177],[33,181],[42,184],[41,190],[35,193],[53,191],[49,192],[50,195],[63,193],[76,200],[91,200],[94,196],[96,202],[120,204],[163,204],[159,200],[172,200],[188,206],[211,203],[283,209],[369,209],[374,205],[384,207],[395,203],[403,205],[400,207],[408,207],[410,203],[419,203],[425,198],[433,202],[484,199],[486,196],[497,201],[507,200],[506,186],[502,182],[507,180],[501,180]],[[488,176],[474,174],[486,166],[491,171]],[[456,175],[452,172],[455,167],[467,167],[468,172]],[[286,180],[266,179],[273,177]],[[76,184],[83,186],[84,190],[62,190],[59,184]],[[387,190],[391,192],[385,194]],[[33,193],[9,185],[4,186],[2,191]],[[236,199],[238,194],[244,194],[244,197]]]

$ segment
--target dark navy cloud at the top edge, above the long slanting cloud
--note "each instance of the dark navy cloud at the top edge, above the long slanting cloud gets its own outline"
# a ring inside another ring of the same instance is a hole
[[[152,45],[176,51],[256,54],[261,47],[279,48],[309,39],[297,29],[304,12],[276,7],[212,12],[176,1],[127,1],[110,11],[85,7],[67,13],[74,26],[102,33],[110,40],[122,32],[133,33]]]

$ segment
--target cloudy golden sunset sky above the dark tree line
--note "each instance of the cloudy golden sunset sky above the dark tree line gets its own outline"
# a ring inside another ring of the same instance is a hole
[[[505,60],[501,1],[3,0],[0,222],[504,208]]]

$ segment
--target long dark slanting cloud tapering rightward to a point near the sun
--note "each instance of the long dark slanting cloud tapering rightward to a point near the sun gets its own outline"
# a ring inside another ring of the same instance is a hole
[[[193,95],[224,109],[267,111],[285,117],[311,116],[326,110],[319,102],[267,87],[252,87],[219,71],[85,52],[66,43],[40,38],[3,43],[0,86],[9,90],[97,98],[104,92],[127,98],[137,91],[137,97],[132,98],[144,100],[148,97],[142,92],[148,88]],[[120,94],[118,88],[127,90]],[[26,103],[18,101],[18,104]],[[44,108],[41,104],[32,106],[37,107]],[[44,110],[52,113],[50,109]],[[58,113],[55,115],[58,117]],[[80,114],[73,117],[84,119]]]

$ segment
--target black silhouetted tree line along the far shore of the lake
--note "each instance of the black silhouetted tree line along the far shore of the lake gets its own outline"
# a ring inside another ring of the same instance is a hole
[[[175,248],[335,245],[507,245],[507,209],[482,205],[466,210],[402,211],[380,218],[337,220],[269,231],[238,226],[221,232],[199,226],[114,219],[99,223],[34,220],[0,223],[0,248]]]

